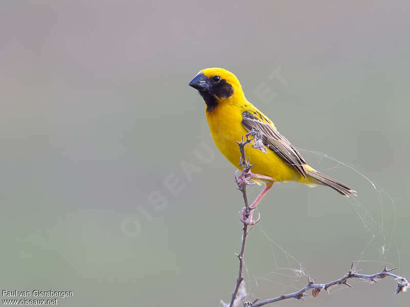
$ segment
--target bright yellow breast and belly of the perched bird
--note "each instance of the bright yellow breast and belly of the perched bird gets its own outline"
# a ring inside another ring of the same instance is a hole
[[[240,141],[242,136],[248,133],[241,123],[243,111],[247,110],[227,103],[218,105],[212,112],[207,112],[208,124],[216,146],[222,155],[239,169],[240,152],[236,141]],[[245,154],[250,157],[250,163],[255,164],[252,168],[254,173],[269,176],[274,181],[310,183],[270,149],[263,153],[252,148],[250,143],[245,146]]]

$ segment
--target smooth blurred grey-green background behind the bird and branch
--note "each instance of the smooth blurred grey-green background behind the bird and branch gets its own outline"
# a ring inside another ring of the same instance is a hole
[[[295,291],[304,274],[339,278],[353,260],[410,277],[409,9],[3,1],[1,288],[73,291],[61,306],[229,300],[243,201],[188,86],[206,67],[235,73],[309,164],[359,194],[275,185],[245,253],[250,299]],[[394,280],[352,284],[303,304],[410,299]]]

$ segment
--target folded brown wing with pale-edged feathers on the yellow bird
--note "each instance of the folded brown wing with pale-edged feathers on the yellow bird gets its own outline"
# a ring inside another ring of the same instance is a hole
[[[306,178],[303,164],[306,164],[303,157],[296,148],[276,131],[269,123],[263,123],[249,112],[242,113],[242,125],[247,130],[254,129],[261,132],[263,145],[274,151],[287,164],[293,166],[302,176]]]

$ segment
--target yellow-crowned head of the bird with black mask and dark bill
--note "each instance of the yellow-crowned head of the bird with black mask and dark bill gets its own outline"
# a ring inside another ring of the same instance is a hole
[[[213,111],[215,107],[234,95],[243,95],[242,87],[236,76],[222,68],[207,68],[189,82],[189,86],[198,90],[203,100],[207,103],[207,111]]]

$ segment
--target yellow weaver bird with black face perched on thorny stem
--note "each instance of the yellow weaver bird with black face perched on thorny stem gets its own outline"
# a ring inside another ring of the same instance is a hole
[[[236,141],[240,141],[251,130],[262,134],[264,148],[245,146],[245,156],[250,157],[251,163],[255,164],[252,172],[246,174],[245,182],[253,180],[265,184],[251,208],[256,208],[275,181],[295,181],[308,186],[325,185],[344,196],[356,195],[356,191],[348,186],[306,164],[273,122],[245,98],[239,80],[233,73],[221,68],[203,69],[189,85],[198,90],[205,101],[212,138],[222,155],[233,165],[238,167],[239,162]],[[247,223],[255,223],[252,213]]]

